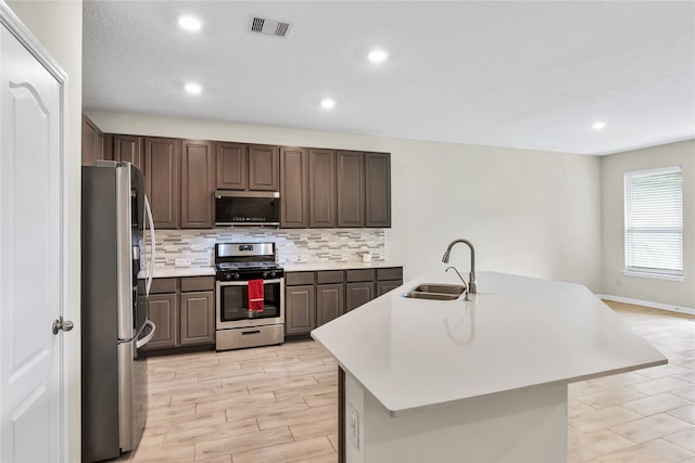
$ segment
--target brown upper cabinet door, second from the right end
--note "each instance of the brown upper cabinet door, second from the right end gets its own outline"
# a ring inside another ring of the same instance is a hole
[[[355,151],[336,153],[338,227],[365,226],[365,154]]]

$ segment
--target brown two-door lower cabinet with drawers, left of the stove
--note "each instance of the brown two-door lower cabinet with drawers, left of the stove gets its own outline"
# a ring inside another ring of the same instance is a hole
[[[215,279],[154,279],[149,317],[156,325],[150,350],[215,343]]]

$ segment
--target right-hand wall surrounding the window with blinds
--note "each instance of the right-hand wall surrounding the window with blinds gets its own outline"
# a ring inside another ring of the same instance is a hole
[[[622,274],[624,269],[623,176],[634,170],[683,167],[683,274],[685,281]],[[608,295],[695,307],[695,140],[612,154],[602,158],[603,292]]]

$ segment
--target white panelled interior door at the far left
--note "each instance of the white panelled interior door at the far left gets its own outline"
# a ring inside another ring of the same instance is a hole
[[[3,13],[0,11],[0,13]],[[62,85],[0,30],[1,462],[61,461]]]

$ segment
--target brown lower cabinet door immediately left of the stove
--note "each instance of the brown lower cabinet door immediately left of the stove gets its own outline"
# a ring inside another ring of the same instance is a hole
[[[214,292],[181,293],[180,345],[215,342]]]

